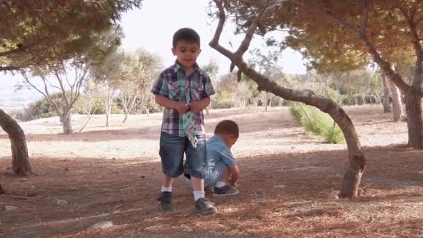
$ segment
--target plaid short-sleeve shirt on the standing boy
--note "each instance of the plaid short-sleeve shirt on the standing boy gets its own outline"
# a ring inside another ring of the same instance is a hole
[[[198,102],[205,97],[214,94],[214,89],[210,77],[200,70],[197,64],[194,65],[194,71],[189,76],[179,63],[163,70],[159,78],[154,83],[151,93],[161,95],[170,100],[182,103]],[[205,134],[204,114],[202,111],[196,113],[195,125],[198,134]],[[182,116],[175,109],[164,109],[161,131],[175,136],[186,136],[182,123]]]

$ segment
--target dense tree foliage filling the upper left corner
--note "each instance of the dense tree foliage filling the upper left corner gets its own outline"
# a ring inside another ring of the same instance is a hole
[[[142,0],[3,1],[0,4],[0,71],[73,58],[119,29],[120,15]],[[120,39],[116,38],[119,45]],[[97,45],[97,47],[92,47]]]

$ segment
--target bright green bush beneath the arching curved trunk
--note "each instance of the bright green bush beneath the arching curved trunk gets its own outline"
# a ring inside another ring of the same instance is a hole
[[[289,104],[289,112],[306,130],[314,135],[325,138],[325,143],[344,143],[342,130],[333,122],[327,113],[305,104]]]

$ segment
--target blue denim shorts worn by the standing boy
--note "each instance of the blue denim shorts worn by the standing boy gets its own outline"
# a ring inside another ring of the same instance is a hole
[[[166,132],[160,135],[160,157],[163,173],[169,177],[178,177],[185,173],[192,177],[204,178],[206,164],[205,135],[198,135],[197,148],[193,148],[188,137],[180,137]]]

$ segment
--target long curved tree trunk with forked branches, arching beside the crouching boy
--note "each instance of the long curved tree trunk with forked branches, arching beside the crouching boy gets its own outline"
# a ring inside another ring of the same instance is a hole
[[[218,43],[225,24],[226,14],[225,9],[223,8],[223,1],[214,0],[214,2],[219,10],[219,22],[214,33],[214,38],[211,42],[209,42],[210,47],[216,49],[216,51],[229,58],[232,62],[231,68],[233,68],[233,66],[237,66],[239,69],[237,74],[238,79],[241,79],[242,72],[257,83],[259,90],[265,90],[287,100],[303,102],[308,105],[316,106],[318,109],[328,113],[330,117],[333,118],[344,133],[349,159],[349,166],[346,168],[346,173],[344,175],[344,179],[342,180],[340,197],[356,197],[358,195],[358,187],[361,182],[362,173],[364,173],[366,168],[367,158],[365,151],[361,148],[353,122],[349,116],[346,115],[344,109],[332,100],[316,95],[311,90],[293,90],[278,86],[278,84],[269,80],[263,74],[260,74],[253,68],[250,68],[242,58],[243,54],[248,50],[262,15],[264,15],[266,10],[270,10],[271,8],[264,8],[264,10],[255,17],[254,21],[250,24],[250,26],[248,26],[248,30],[246,31],[246,35],[244,40],[241,42],[241,45],[237,51],[232,52]]]

